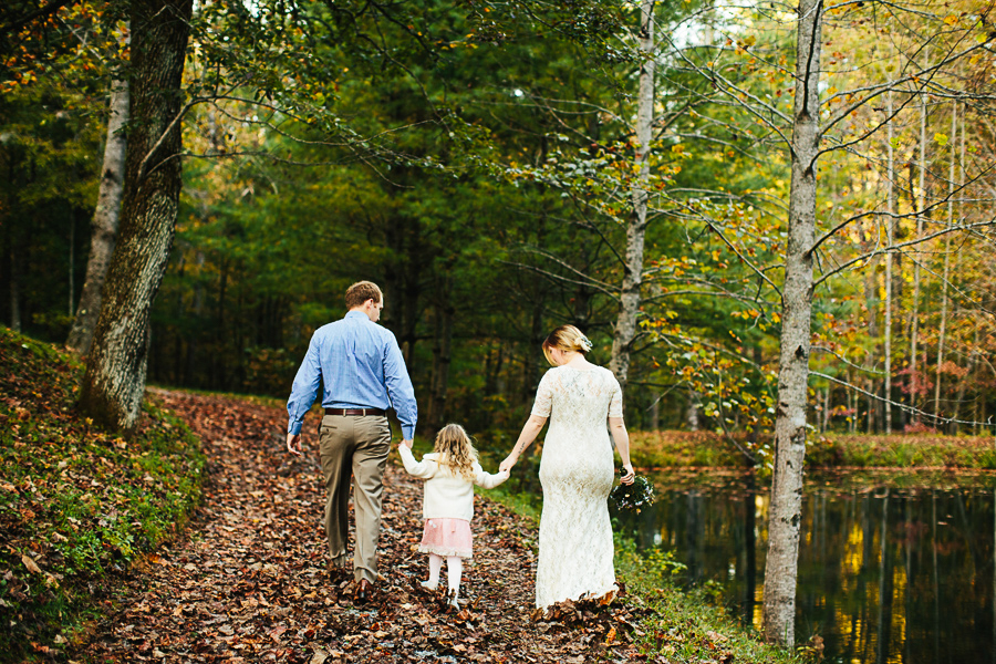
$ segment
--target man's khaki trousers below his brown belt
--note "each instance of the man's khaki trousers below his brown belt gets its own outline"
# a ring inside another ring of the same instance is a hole
[[[350,475],[353,477],[353,515],[356,581],[377,580],[377,540],[381,537],[381,477],[391,452],[391,426],[383,415],[325,415],[319,437],[325,477],[325,536],[332,563],[346,567],[350,536]]]

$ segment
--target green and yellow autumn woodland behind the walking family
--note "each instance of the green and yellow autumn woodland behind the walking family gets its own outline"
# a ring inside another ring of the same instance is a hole
[[[983,433],[996,409],[989,9],[826,8],[821,117],[892,83],[843,113],[818,168],[816,429]],[[637,10],[198,3],[149,381],[286,396],[359,279],[385,291],[423,433],[516,429],[558,324],[587,331],[608,364],[639,170]],[[654,11],[627,425],[739,433],[765,456],[795,8]],[[4,46],[0,320],[42,340],[64,340],[77,313],[127,35],[121,7],[79,2]]]

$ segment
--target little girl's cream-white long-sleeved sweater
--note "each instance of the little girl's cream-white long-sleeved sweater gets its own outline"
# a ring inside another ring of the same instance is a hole
[[[422,461],[405,445],[398,446],[405,470],[425,481],[425,501],[422,516],[425,519],[465,519],[474,517],[474,485],[494,489],[508,479],[508,473],[491,475],[485,473],[480,464],[474,464],[474,481],[454,475],[449,468],[439,465],[439,455],[427,454]]]

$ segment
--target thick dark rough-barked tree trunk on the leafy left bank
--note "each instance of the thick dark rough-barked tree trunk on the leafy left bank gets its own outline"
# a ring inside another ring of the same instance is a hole
[[[104,284],[80,395],[97,424],[126,435],[145,393],[148,319],[166,271],[180,187],[180,87],[193,0],[133,0],[132,80],[121,236]]]

